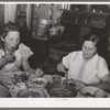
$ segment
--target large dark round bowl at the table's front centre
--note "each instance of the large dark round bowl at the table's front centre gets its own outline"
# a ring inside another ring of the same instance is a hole
[[[53,98],[70,98],[77,96],[76,88],[69,85],[54,82],[50,84],[46,89],[48,95]]]

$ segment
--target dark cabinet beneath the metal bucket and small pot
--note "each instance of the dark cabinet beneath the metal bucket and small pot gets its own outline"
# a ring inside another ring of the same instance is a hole
[[[47,57],[48,44],[52,42],[54,37],[32,35],[31,48],[37,58],[44,61]]]

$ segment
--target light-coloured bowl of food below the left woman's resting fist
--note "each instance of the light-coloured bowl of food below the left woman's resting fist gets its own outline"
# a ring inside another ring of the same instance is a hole
[[[43,78],[43,77],[38,77],[38,78],[33,78],[32,84],[33,84],[33,88],[37,88],[40,90],[44,90],[45,87],[47,86],[47,79]]]

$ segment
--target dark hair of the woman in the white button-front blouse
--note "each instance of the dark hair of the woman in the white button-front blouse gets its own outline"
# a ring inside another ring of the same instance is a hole
[[[95,46],[96,46],[97,48],[98,48],[98,46],[99,46],[99,35],[97,35],[97,34],[92,34],[92,33],[87,34],[87,35],[85,36],[84,41],[82,41],[82,44],[84,44],[85,41],[91,41],[92,43],[96,44]]]

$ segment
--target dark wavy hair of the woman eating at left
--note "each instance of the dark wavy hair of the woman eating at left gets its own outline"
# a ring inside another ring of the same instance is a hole
[[[3,46],[3,42],[1,38],[4,38],[10,31],[18,31],[20,32],[20,28],[16,23],[9,21],[9,23],[2,26],[2,31],[0,33],[0,47]]]

